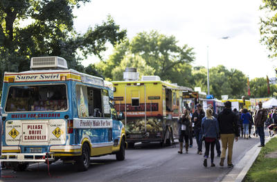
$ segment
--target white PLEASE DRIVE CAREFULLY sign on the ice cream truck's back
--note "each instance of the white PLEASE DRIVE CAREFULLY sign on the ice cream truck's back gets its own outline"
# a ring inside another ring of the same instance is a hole
[[[23,142],[46,142],[47,123],[22,123],[22,141]]]

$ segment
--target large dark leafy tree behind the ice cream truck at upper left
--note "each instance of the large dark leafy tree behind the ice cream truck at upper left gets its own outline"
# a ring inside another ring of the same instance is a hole
[[[1,0],[0,60],[3,70],[29,70],[30,58],[60,56],[69,68],[83,71],[80,60],[89,54],[101,57],[105,43],[116,45],[126,37],[111,17],[85,34],[73,29],[73,8],[90,0]],[[22,22],[29,22],[21,26]],[[1,80],[3,80],[1,78]]]

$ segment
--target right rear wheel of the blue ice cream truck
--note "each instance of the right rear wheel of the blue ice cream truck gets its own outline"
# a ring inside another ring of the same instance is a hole
[[[78,171],[86,171],[89,169],[90,164],[90,150],[89,144],[84,143],[82,145],[82,154],[76,159],[76,165]]]

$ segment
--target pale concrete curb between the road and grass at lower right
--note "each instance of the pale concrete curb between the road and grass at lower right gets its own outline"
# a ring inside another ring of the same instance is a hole
[[[265,143],[270,141],[274,137],[266,137]],[[248,152],[242,156],[240,161],[234,165],[234,168],[224,176],[222,182],[242,182],[247,175],[247,172],[256,161],[258,154],[262,148],[259,148],[260,142],[253,146]]]

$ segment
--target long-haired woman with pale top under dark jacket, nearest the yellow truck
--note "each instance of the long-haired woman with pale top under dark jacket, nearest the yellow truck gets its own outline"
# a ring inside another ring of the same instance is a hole
[[[179,124],[179,144],[180,150],[179,154],[183,154],[183,143],[185,139],[185,148],[186,153],[188,153],[188,138],[190,136],[190,112],[186,109],[183,110],[183,114],[180,116],[178,120]]]

